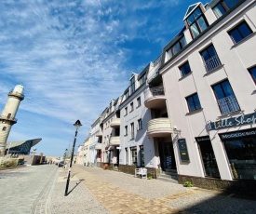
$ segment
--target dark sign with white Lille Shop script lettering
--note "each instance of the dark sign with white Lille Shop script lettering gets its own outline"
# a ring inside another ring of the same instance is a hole
[[[239,127],[249,124],[256,124],[256,113],[242,114],[236,117],[225,118],[215,122],[210,122],[207,125],[208,130],[217,130],[228,127]]]

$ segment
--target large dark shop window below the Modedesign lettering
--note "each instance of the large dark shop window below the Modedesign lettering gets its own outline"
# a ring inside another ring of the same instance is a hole
[[[256,138],[223,140],[233,178],[256,180]]]

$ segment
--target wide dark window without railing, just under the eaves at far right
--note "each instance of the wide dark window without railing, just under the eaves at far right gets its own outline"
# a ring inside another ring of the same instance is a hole
[[[249,36],[252,33],[246,21],[241,22],[228,32],[234,43],[240,42],[242,39]]]

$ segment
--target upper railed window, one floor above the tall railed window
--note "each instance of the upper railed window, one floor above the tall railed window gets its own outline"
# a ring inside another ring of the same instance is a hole
[[[210,45],[206,49],[200,52],[202,59],[205,62],[207,72],[219,67],[222,63],[215,51],[215,48]]]

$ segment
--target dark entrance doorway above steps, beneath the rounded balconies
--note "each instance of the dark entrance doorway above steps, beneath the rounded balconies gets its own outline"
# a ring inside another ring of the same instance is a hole
[[[163,171],[176,169],[174,151],[171,142],[159,142],[160,164]]]

